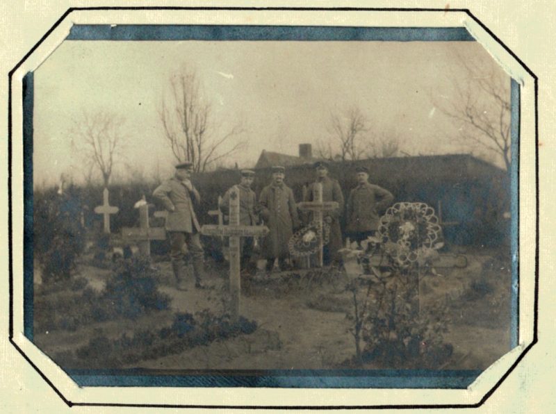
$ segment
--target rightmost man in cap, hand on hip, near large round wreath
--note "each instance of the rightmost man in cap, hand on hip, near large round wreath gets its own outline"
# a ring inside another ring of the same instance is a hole
[[[357,187],[347,199],[346,232],[359,243],[375,235],[378,229],[379,213],[392,204],[394,196],[388,190],[368,182],[366,167],[357,167]]]

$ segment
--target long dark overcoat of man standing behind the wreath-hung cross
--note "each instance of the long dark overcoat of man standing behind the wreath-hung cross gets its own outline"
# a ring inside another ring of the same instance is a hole
[[[325,177],[320,181],[311,183],[307,189],[306,201],[316,201],[315,188],[317,183],[322,183],[322,201],[336,201],[338,203],[338,208],[332,211],[325,211],[322,217],[330,217],[332,222],[330,223],[330,235],[328,241],[328,249],[331,256],[334,258],[339,249],[342,248],[342,231],[340,228],[340,219],[343,213],[343,194],[340,187],[340,183],[329,177]],[[312,220],[312,217],[311,217]]]

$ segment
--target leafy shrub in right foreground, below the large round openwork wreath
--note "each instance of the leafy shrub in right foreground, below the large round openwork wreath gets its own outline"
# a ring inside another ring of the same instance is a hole
[[[347,318],[353,323],[357,363],[434,369],[452,354],[452,346],[443,342],[450,322],[445,302],[419,309],[414,276],[397,270],[347,285],[354,304]]]

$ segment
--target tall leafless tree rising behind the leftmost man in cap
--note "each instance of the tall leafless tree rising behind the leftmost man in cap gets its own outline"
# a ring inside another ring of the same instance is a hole
[[[164,139],[178,162],[193,163],[195,172],[204,172],[218,161],[234,154],[245,144],[238,140],[243,133],[236,124],[221,133],[213,121],[211,104],[206,101],[202,85],[191,69],[170,76],[170,85],[158,110]]]

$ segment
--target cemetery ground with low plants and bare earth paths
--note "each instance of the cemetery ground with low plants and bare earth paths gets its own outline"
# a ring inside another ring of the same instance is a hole
[[[68,368],[483,369],[501,356],[500,342],[509,346],[510,277],[500,271],[506,263],[496,252],[480,253],[466,254],[464,268],[447,267],[423,277],[422,311],[439,298],[449,299],[441,313],[445,320],[439,321],[446,347],[427,358],[373,359],[364,340],[361,358],[356,358],[353,292],[347,286],[359,279],[327,268],[270,277],[259,270],[242,281],[242,311],[234,324],[226,311],[230,295],[222,275],[227,267],[210,259],[208,283],[214,289],[208,291],[195,290],[193,277],[187,292],[177,290],[170,264],[156,263],[152,274],[160,297],[158,307],[156,300],[145,298],[143,303],[155,304],[148,308],[130,299],[137,292],[122,295],[120,302],[108,295],[106,288],[121,295],[131,286],[114,283],[111,270],[88,265],[85,254],[77,282],[59,290],[38,286],[34,338],[40,349]],[[364,279],[359,283],[361,296],[367,285]],[[153,293],[146,281],[136,284],[144,295]]]

